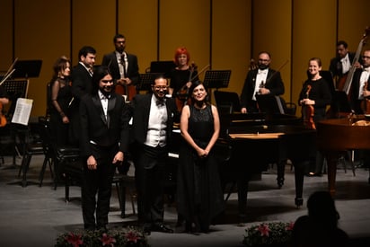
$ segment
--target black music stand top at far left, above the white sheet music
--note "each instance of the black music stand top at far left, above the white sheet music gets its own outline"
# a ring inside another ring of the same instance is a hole
[[[18,60],[15,65],[13,78],[39,77],[42,60]]]

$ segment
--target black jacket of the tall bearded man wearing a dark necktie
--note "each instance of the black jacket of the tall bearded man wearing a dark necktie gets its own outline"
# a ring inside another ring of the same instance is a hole
[[[127,75],[132,84],[137,85],[139,83],[139,72],[138,72],[138,64],[137,64],[137,56],[133,54],[126,53],[128,57],[128,69],[127,69]],[[114,80],[120,79],[119,74],[119,62],[117,61],[116,53],[115,51],[110,52],[109,54],[106,54],[102,57],[101,61],[102,66],[109,66],[110,73],[113,76]]]

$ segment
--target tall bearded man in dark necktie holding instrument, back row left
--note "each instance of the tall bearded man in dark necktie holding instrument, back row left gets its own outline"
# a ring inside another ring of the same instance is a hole
[[[126,38],[122,34],[116,34],[113,38],[115,50],[102,57],[101,65],[108,66],[116,84],[115,92],[127,96],[131,101],[137,94],[139,82],[139,68],[137,56],[129,54],[126,49]]]

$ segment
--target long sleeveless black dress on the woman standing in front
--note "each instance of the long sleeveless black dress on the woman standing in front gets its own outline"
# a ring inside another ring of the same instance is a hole
[[[205,148],[214,133],[211,105],[197,109],[190,105],[189,135]],[[178,214],[207,232],[212,219],[224,208],[218,163],[213,149],[201,159],[184,140],[180,147],[177,184]]]

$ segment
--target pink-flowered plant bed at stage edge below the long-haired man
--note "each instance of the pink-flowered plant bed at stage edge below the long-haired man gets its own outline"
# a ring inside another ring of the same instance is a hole
[[[148,247],[142,229],[133,226],[114,228],[111,230],[84,231],[76,230],[60,234],[55,247]]]

